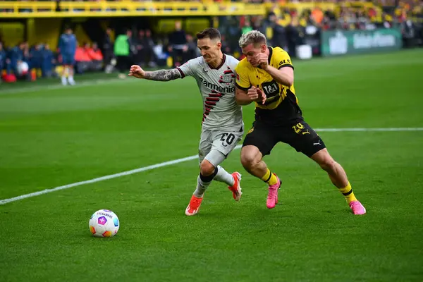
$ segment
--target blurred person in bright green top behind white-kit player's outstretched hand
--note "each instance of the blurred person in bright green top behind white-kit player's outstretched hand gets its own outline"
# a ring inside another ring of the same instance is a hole
[[[125,72],[130,68],[130,44],[132,41],[132,31],[127,30],[125,35],[119,35],[114,44],[114,54],[116,56],[116,68],[119,71],[119,78],[126,78]]]

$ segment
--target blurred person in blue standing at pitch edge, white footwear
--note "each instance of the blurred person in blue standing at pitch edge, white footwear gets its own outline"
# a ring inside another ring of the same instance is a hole
[[[73,65],[75,64],[76,47],[76,37],[73,35],[71,27],[67,27],[65,33],[59,39],[59,52],[63,63],[63,73],[61,75],[62,85],[66,85],[67,82],[70,85],[75,85],[75,80],[73,80]],[[68,75],[67,81],[66,75]]]

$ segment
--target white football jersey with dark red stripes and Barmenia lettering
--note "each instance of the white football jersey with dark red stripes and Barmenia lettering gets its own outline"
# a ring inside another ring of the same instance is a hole
[[[243,130],[243,110],[235,101],[235,67],[238,60],[223,54],[217,68],[202,56],[178,67],[180,78],[192,76],[203,99],[202,127],[209,130]]]

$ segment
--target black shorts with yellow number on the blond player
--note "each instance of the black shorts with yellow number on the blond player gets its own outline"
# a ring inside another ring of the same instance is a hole
[[[278,142],[289,144],[307,157],[326,148],[320,136],[304,121],[292,125],[276,126],[255,121],[245,136],[243,147],[253,145],[259,148],[263,156],[270,154],[271,149]]]

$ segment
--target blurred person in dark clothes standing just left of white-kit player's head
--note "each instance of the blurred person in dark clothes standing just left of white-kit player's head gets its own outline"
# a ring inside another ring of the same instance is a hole
[[[180,66],[188,61],[188,42],[185,31],[182,30],[182,23],[177,20],[175,23],[175,31],[169,35],[168,51],[173,58],[173,66]]]

